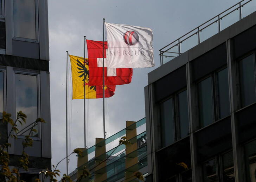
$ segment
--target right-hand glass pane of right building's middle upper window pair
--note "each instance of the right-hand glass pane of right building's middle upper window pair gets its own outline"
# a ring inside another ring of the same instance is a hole
[[[217,99],[219,119],[230,115],[228,68],[217,72]]]

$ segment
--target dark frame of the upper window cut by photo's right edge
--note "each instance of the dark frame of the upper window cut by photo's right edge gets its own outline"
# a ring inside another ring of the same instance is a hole
[[[243,55],[242,57],[239,57],[235,64],[236,64],[236,80],[237,80],[237,102],[238,102],[238,110],[244,108],[244,107],[247,107],[249,105],[252,105],[252,104],[255,104],[256,102],[254,103],[251,103],[247,106],[242,106],[242,97],[241,97],[241,83],[240,83],[240,68],[239,68],[239,62],[242,61],[242,59],[250,56],[252,54],[252,57],[254,59],[254,87],[255,87],[255,97],[256,97],[256,52],[255,51],[250,51],[248,52],[247,54]]]

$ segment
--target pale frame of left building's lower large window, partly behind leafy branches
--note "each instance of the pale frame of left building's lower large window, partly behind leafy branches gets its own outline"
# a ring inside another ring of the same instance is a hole
[[[23,74],[23,75],[32,75],[37,76],[37,118],[41,117],[41,99],[40,99],[40,72],[39,71],[29,71],[25,69],[13,69],[14,73],[14,80],[15,80],[15,74]],[[14,81],[14,92],[16,91],[16,85]],[[15,99],[14,99],[14,109],[16,113],[16,93],[15,93]],[[24,113],[26,114],[26,113]],[[16,115],[15,115],[16,117]],[[41,140],[41,123],[38,123],[38,137],[31,137],[33,140]],[[17,135],[20,139],[25,139],[25,135]]]

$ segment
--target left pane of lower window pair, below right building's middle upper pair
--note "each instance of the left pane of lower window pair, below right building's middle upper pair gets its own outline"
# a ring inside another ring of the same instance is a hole
[[[217,182],[216,160],[203,163],[202,176],[204,182]]]

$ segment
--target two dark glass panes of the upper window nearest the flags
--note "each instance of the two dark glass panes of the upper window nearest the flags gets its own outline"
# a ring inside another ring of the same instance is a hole
[[[187,90],[173,94],[160,103],[162,147],[189,134]]]

